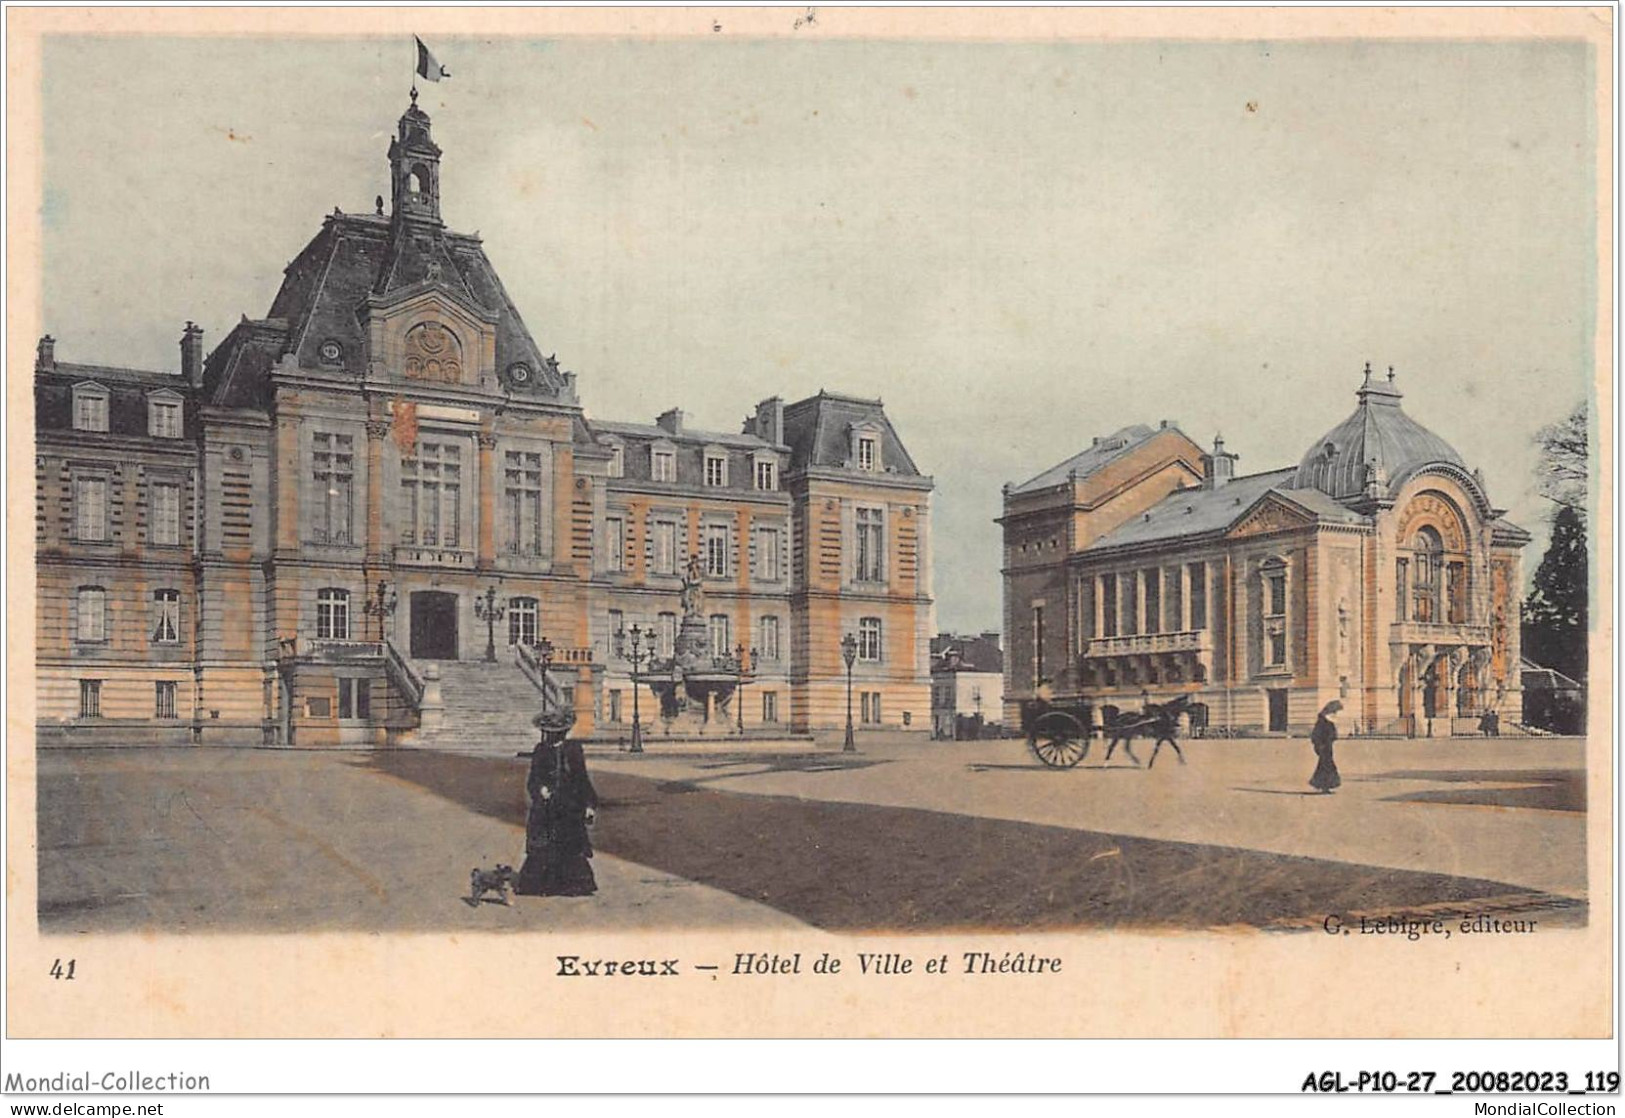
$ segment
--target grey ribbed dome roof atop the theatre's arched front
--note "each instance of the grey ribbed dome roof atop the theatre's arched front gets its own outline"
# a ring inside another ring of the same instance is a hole
[[[1391,369],[1388,380],[1381,382],[1373,380],[1372,366],[1365,366],[1365,384],[1355,396],[1360,406],[1354,414],[1310,445],[1294,474],[1294,489],[1320,489],[1347,499],[1365,492],[1368,471],[1386,494],[1432,463],[1466,470],[1454,447],[1399,406],[1401,395]]]

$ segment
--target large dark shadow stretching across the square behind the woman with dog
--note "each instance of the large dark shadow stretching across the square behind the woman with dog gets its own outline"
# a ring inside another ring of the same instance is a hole
[[[522,760],[379,751],[356,764],[523,822]],[[1326,913],[1573,902],[1474,878],[1358,866],[913,808],[593,775],[595,845],[829,930],[1272,926]]]

